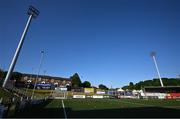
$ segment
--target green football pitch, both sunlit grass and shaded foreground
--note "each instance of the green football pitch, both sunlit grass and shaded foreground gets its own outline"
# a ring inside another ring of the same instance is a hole
[[[17,117],[180,117],[180,101],[138,99],[48,100],[30,107]]]

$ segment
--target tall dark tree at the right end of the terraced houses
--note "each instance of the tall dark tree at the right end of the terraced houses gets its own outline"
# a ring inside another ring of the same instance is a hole
[[[81,79],[79,78],[79,75],[77,73],[71,76],[70,79],[73,88],[81,87]]]

